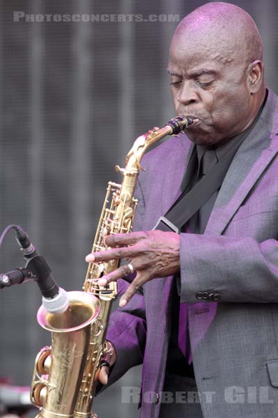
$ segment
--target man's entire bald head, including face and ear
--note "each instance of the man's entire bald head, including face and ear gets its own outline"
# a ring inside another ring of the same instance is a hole
[[[177,114],[199,118],[195,144],[218,146],[247,129],[265,98],[261,36],[245,10],[207,3],[186,16],[170,47]]]

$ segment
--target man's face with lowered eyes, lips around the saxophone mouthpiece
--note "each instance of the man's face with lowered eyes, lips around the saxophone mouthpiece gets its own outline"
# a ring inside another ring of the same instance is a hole
[[[178,37],[177,37],[178,38]],[[168,71],[177,114],[199,118],[186,134],[195,144],[212,146],[242,132],[252,118],[245,60],[183,36],[172,42]],[[221,42],[221,41],[220,41]]]

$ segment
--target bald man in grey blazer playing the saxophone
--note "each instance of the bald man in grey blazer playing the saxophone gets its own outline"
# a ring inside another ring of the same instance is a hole
[[[144,418],[276,418],[278,99],[265,89],[254,21],[228,3],[197,8],[174,33],[168,72],[177,114],[199,123],[143,158],[139,232],[108,237],[115,248],[86,257],[131,266],[99,280],[118,280],[122,295],[107,333],[108,383],[143,363]],[[206,173],[211,196],[181,234],[152,231]]]

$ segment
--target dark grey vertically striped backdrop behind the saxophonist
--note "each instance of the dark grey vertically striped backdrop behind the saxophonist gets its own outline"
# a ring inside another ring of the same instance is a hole
[[[69,291],[81,289],[106,183],[116,180],[114,165],[123,164],[139,134],[174,116],[168,47],[178,21],[203,3],[0,2],[0,228],[21,224]],[[268,86],[278,91],[278,3],[234,3],[256,20]],[[84,21],[59,21],[65,14],[65,20],[83,14]],[[88,16],[95,22],[85,22]],[[0,271],[22,265],[9,233]],[[36,323],[39,306],[33,283],[0,292],[0,376],[15,385],[28,385],[38,349],[50,343]],[[136,404],[124,403],[122,387],[139,385],[140,367],[97,398],[99,417],[111,410],[113,417],[138,417]]]

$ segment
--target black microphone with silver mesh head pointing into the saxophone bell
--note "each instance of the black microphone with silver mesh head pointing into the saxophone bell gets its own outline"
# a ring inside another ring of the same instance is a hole
[[[37,253],[28,235],[20,226],[15,229],[15,235],[17,242],[22,249],[24,258],[27,261],[25,269],[31,271],[32,278],[37,281],[42,293],[42,304],[44,309],[51,314],[63,314],[69,307],[67,292],[63,288],[59,288],[58,284],[56,284],[56,281],[51,275],[49,265],[44,258]],[[8,274],[6,275],[8,276]]]

